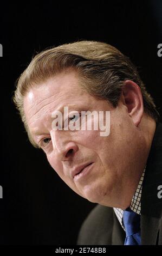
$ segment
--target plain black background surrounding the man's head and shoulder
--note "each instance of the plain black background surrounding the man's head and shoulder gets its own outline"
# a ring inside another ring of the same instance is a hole
[[[1,3],[0,244],[75,244],[95,204],[64,184],[42,151],[28,142],[11,101],[15,82],[31,58],[47,47],[76,40],[112,44],[138,66],[161,110],[161,1],[56,1]]]

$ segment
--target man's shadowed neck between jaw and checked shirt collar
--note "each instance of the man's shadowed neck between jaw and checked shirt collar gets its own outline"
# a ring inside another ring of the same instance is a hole
[[[108,194],[108,197],[105,196],[99,204],[124,210],[131,205],[132,197],[147,164],[155,127],[155,121],[144,114],[139,126],[134,130],[132,142],[130,141],[129,162],[125,166],[126,173],[124,172],[118,187],[114,186],[111,194]]]

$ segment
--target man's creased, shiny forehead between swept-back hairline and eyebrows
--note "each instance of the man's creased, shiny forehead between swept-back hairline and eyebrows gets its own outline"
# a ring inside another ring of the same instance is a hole
[[[92,106],[95,106],[96,99],[79,86],[77,72],[62,72],[54,78],[33,87],[25,95],[25,117],[30,128],[30,126],[40,125],[38,121],[42,119],[48,121],[53,111],[62,111],[64,106],[86,107],[89,105],[89,101]]]

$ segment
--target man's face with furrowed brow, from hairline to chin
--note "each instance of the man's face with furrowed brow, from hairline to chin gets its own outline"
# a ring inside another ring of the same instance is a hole
[[[64,106],[69,112],[110,111],[109,136],[100,136],[100,130],[53,130],[51,113]],[[133,184],[130,166],[138,157],[135,126],[122,98],[116,108],[96,99],[81,89],[71,70],[31,89],[24,111],[34,141],[60,178],[90,202],[118,206]]]

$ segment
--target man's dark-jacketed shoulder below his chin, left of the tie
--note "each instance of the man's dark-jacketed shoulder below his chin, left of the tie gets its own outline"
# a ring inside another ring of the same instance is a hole
[[[77,239],[78,245],[104,245],[111,239],[113,208],[96,205],[83,222]],[[106,240],[105,240],[106,239]]]

